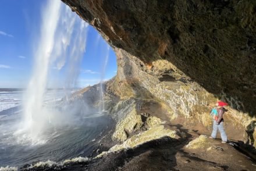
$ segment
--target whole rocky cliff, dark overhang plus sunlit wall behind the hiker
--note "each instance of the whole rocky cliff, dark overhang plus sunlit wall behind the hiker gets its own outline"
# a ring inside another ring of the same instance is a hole
[[[182,126],[209,134],[218,99],[230,104],[229,138],[254,145],[256,1],[62,1],[116,52],[118,73],[104,101],[118,122],[112,139],[123,144],[112,152],[188,138]]]

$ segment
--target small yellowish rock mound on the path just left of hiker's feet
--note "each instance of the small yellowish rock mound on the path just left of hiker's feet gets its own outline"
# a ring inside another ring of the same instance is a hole
[[[186,145],[186,148],[190,149],[197,149],[197,148],[209,148],[211,147],[211,143],[208,141],[208,137],[201,135],[198,138],[195,138],[195,140],[190,141],[189,144]]]

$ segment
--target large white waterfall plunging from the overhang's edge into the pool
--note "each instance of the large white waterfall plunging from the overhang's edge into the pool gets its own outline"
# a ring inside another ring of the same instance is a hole
[[[61,1],[47,1],[42,11],[42,22],[38,47],[34,54],[34,70],[24,95],[22,133],[33,141],[38,138],[52,113],[44,106],[44,95],[51,65],[57,69],[67,66],[67,87],[76,83],[79,74],[79,63],[86,47],[88,24],[64,5]],[[54,122],[54,120],[51,120]],[[20,132],[19,131],[19,132]]]

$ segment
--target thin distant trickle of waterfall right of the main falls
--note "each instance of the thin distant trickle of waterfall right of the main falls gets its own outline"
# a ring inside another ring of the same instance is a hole
[[[109,45],[107,45],[106,55],[105,55],[105,58],[104,58],[104,63],[103,63],[103,66],[102,66],[102,71],[101,71],[101,80],[100,80],[100,83],[99,83],[100,98],[101,98],[101,103],[100,103],[100,108],[99,108],[100,112],[105,111],[103,85],[104,85],[104,79],[105,79],[106,65],[108,64],[109,50],[110,50],[110,47],[109,47]]]

